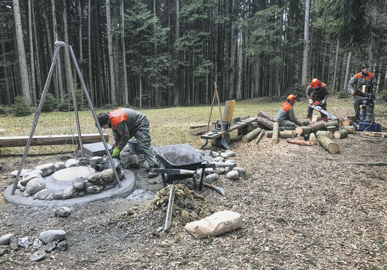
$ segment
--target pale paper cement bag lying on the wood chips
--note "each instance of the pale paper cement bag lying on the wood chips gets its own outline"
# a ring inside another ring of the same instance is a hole
[[[197,239],[217,236],[242,226],[241,214],[228,210],[216,212],[210,217],[187,223],[184,229]]]

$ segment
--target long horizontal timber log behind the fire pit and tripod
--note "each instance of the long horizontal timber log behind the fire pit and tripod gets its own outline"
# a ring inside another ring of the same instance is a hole
[[[103,134],[105,140],[109,140],[108,134]],[[33,136],[30,146],[56,146],[67,143],[71,143],[72,139],[79,141],[78,134],[72,135],[43,135]],[[0,147],[18,147],[26,146],[29,136],[14,136],[14,137],[0,137]],[[99,143],[102,141],[99,133],[95,134],[82,134],[82,143]]]

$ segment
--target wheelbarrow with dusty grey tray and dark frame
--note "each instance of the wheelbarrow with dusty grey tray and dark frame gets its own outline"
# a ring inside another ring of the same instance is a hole
[[[215,167],[233,167],[230,163],[205,163],[203,155],[199,150],[189,146],[188,144],[176,144],[172,146],[154,147],[158,158],[160,158],[159,169],[153,169],[154,172],[161,174],[164,186],[173,184],[174,181],[183,179],[192,179],[192,186],[201,190],[203,187],[204,171],[206,168]],[[201,181],[197,187],[195,172],[197,169],[202,169]]]

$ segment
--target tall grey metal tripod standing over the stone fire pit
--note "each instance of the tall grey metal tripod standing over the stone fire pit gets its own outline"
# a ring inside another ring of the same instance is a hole
[[[108,144],[106,143],[105,137],[103,136],[103,131],[101,129],[101,125],[98,122],[98,119],[97,119],[97,116],[96,116],[96,111],[94,110],[93,103],[91,103],[89,92],[87,91],[86,84],[84,84],[82,73],[81,73],[80,67],[79,67],[79,65],[77,63],[77,58],[75,58],[74,51],[72,51],[72,46],[69,46],[69,45],[65,44],[65,42],[63,42],[63,41],[56,41],[54,45],[55,45],[55,47],[54,47],[54,51],[53,51],[53,60],[52,60],[51,67],[50,67],[50,70],[49,70],[49,75],[47,75],[46,84],[44,84],[44,89],[43,89],[42,97],[40,98],[39,106],[37,108],[37,113],[35,114],[34,121],[32,122],[32,128],[31,128],[31,131],[30,131],[30,137],[28,138],[27,145],[25,146],[25,150],[24,150],[22,162],[20,162],[20,167],[19,167],[19,170],[18,170],[18,174],[16,175],[16,179],[13,182],[13,187],[12,187],[12,191],[11,191],[12,195],[15,194],[15,190],[16,190],[16,186],[18,185],[20,173],[21,173],[21,171],[23,169],[25,158],[27,158],[28,150],[30,149],[30,145],[31,145],[31,141],[32,141],[32,136],[34,136],[35,129],[37,127],[37,121],[39,119],[40,111],[42,110],[42,107],[43,107],[44,98],[46,98],[46,94],[49,91],[49,86],[50,86],[50,82],[51,82],[53,68],[54,68],[54,65],[56,63],[56,58],[58,58],[59,50],[62,47],[65,48],[65,56],[66,56],[66,61],[67,61],[67,65],[68,65],[68,79],[70,80],[70,88],[71,88],[71,91],[72,91],[72,102],[74,103],[75,118],[77,120],[77,131],[78,131],[78,137],[79,137],[79,141],[80,141],[81,153],[83,155],[81,130],[80,130],[80,120],[79,120],[79,117],[78,117],[77,101],[76,101],[76,98],[75,98],[74,84],[72,82],[70,55],[71,55],[71,58],[72,58],[72,63],[74,63],[75,69],[77,70],[78,77],[80,78],[81,86],[82,86],[82,89],[84,91],[84,96],[86,96],[87,102],[89,103],[89,106],[90,106],[90,109],[91,109],[91,113],[93,113],[94,120],[96,122],[96,127],[99,130],[99,134],[101,136],[101,140],[103,142],[103,146],[105,147],[105,150],[106,150],[106,155],[108,155],[108,160],[109,160],[111,165],[114,164],[113,163],[113,159],[112,159],[112,157],[110,155]],[[115,175],[115,179],[117,181],[118,186],[120,186],[120,188],[122,188],[122,184],[120,182],[120,177],[118,176],[118,172],[115,169],[115,166],[112,166],[112,169],[113,169],[113,172],[114,172],[114,175]]]

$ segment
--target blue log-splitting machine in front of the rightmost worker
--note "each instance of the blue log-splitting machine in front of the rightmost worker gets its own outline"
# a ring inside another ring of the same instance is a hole
[[[375,94],[371,85],[365,87],[364,98],[360,109],[362,113],[360,120],[356,124],[356,130],[359,131],[381,131],[381,124],[374,122]]]

